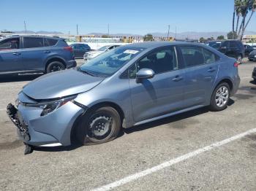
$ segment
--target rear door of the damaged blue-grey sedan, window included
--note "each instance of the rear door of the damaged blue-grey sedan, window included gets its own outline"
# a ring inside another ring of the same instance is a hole
[[[187,107],[205,105],[219,69],[219,58],[203,47],[179,46],[184,61],[184,104]]]

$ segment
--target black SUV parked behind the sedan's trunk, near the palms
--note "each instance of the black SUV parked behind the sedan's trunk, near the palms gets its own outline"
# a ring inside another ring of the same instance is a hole
[[[219,51],[231,58],[236,58],[238,63],[241,63],[244,58],[245,48],[244,44],[239,40],[226,40],[220,45]]]

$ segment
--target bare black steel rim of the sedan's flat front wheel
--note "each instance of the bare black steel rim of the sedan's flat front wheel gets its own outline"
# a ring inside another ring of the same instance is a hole
[[[94,117],[89,123],[89,136],[96,139],[105,139],[112,130],[112,117],[100,115]]]

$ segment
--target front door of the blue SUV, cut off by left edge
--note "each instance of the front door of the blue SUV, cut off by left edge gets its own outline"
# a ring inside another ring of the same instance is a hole
[[[20,37],[0,42],[0,74],[11,74],[23,70],[20,55]]]

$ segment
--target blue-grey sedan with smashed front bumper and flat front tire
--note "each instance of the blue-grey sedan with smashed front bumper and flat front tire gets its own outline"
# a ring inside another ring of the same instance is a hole
[[[203,44],[129,44],[35,79],[7,114],[29,146],[99,144],[121,128],[203,106],[225,109],[239,82],[236,60]]]

